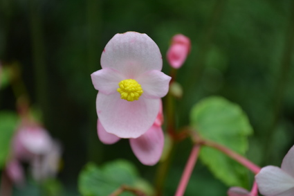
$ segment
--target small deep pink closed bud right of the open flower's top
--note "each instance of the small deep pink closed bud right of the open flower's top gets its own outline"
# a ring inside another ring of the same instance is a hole
[[[177,34],[172,37],[172,45],[167,51],[167,61],[175,69],[180,68],[185,62],[191,49],[191,42],[188,37]]]

